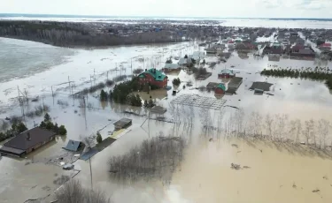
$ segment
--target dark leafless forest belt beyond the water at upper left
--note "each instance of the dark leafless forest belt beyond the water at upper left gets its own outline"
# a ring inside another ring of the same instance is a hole
[[[179,41],[167,31],[148,32],[128,36],[98,33],[97,27],[84,23],[48,21],[0,21],[0,36],[38,41],[59,47],[114,46]]]

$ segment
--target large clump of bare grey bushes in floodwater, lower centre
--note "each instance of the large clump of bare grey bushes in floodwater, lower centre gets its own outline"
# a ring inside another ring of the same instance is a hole
[[[183,159],[185,143],[181,137],[164,136],[146,139],[129,153],[110,159],[110,173],[120,180],[162,178],[169,183],[176,167]]]

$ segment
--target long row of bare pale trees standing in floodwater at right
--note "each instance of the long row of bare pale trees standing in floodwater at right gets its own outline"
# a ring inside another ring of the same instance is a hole
[[[303,143],[312,147],[326,149],[332,145],[328,143],[331,124],[326,119],[290,119],[287,114],[261,115],[257,111],[245,114],[243,109],[237,109],[226,117],[225,109],[213,112],[202,108],[199,111],[201,124],[206,134],[217,132],[218,135],[235,137],[253,137],[271,139],[293,144]],[[332,148],[331,148],[332,150]]]

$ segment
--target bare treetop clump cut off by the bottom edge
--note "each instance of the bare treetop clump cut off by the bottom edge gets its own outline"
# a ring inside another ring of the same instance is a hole
[[[61,203],[111,203],[103,192],[85,189],[78,180],[67,182],[55,193],[58,202]]]

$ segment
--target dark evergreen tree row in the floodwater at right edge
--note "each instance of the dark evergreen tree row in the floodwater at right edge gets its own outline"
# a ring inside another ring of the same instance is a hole
[[[290,78],[300,78],[300,79],[315,79],[315,80],[325,80],[325,84],[329,89],[332,89],[332,73],[328,71],[306,71],[306,70],[292,70],[292,69],[270,69],[260,72],[261,75],[266,76],[276,76],[276,77],[290,77]]]

